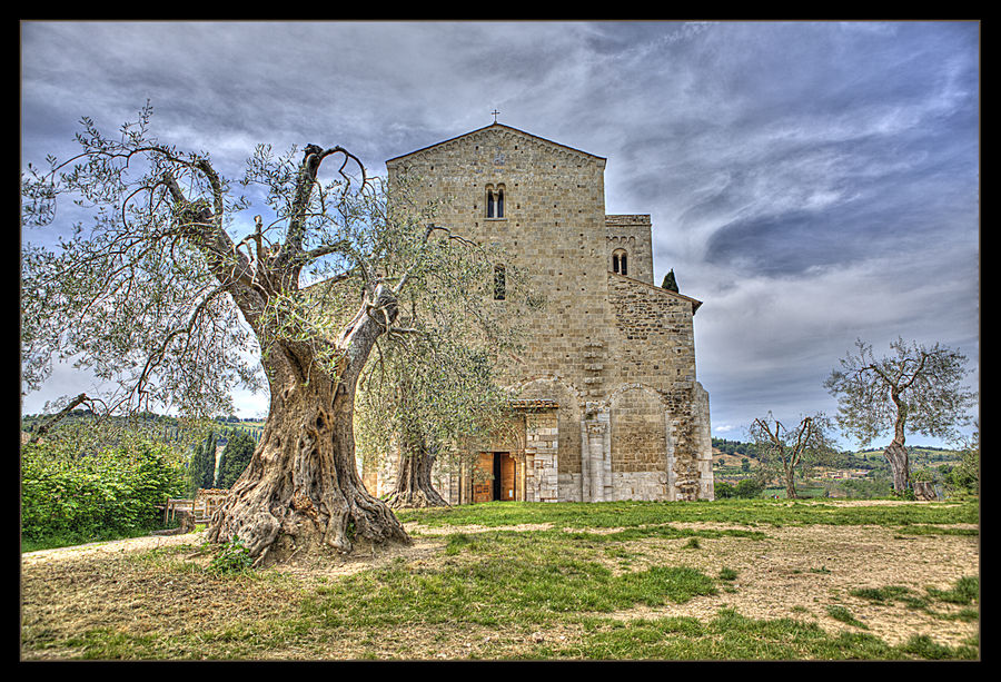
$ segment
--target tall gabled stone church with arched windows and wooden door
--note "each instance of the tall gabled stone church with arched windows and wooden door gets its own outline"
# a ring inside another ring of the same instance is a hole
[[[605,161],[497,122],[386,161],[390,182],[419,177],[418,200],[444,200],[435,223],[503,248],[547,302],[506,368],[514,435],[439,467],[452,504],[713,498],[701,302],[654,284],[648,215],[605,212]],[[365,473],[370,492],[387,473]]]

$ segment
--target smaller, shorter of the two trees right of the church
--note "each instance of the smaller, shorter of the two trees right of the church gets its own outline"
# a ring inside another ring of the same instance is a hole
[[[785,482],[785,495],[796,498],[796,472],[830,459],[834,449],[829,442],[830,421],[823,414],[803,417],[795,428],[786,428],[769,413],[754,419],[754,438],[762,462],[777,470]]]

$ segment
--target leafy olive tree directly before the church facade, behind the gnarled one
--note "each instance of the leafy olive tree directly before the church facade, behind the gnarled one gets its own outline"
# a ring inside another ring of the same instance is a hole
[[[460,271],[453,265],[448,276]],[[447,506],[432,481],[435,464],[454,470],[509,427],[512,395],[497,369],[521,352],[531,313],[545,305],[528,288],[529,278],[509,265],[504,315],[436,280],[409,289],[400,323],[412,333],[377,345],[356,399],[355,434],[366,466],[396,459],[392,507]],[[478,281],[484,294],[493,293],[484,285],[489,283]]]

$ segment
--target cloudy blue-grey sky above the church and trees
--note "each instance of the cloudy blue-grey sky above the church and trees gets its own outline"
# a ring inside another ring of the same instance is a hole
[[[979,388],[975,22],[21,24],[24,162],[147,100],[161,141],[231,177],[260,142],[340,145],[383,174],[495,108],[607,158],[607,212],[650,214],[656,281],[673,268],[704,302],[714,436],[833,414],[823,380],[856,338],[958,348]],[[83,382],[60,368],[23,409]]]

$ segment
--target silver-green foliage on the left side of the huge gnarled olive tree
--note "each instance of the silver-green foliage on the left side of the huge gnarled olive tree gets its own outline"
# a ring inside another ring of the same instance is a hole
[[[228,180],[199,171],[208,155],[157,142],[151,112],[145,108],[118,138],[85,118],[78,156],[22,174],[22,382],[34,389],[53,362],[72,360],[115,387],[105,396],[111,409],[184,405],[211,414],[230,406],[234,386],[259,386],[254,337],[217,277],[236,266],[236,254],[207,247],[194,217],[209,202],[177,206],[166,178],[217,197],[224,226],[246,200],[230,195]],[[53,229],[70,227],[47,246]]]

